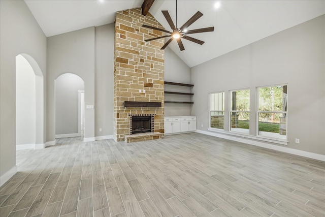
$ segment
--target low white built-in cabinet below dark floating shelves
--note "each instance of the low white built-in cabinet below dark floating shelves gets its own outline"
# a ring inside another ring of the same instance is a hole
[[[186,133],[197,130],[197,116],[165,117],[165,134]]]

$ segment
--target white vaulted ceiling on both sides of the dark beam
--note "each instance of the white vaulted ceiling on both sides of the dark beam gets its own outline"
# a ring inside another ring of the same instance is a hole
[[[47,37],[90,26],[113,23],[115,12],[141,7],[143,0],[25,0]],[[221,7],[214,8],[219,2]],[[199,45],[182,40],[180,51],[173,41],[169,47],[189,66],[248,45],[257,40],[325,14],[324,0],[193,1],[178,0],[177,27],[198,10],[204,15],[188,29],[214,26],[214,32],[190,35],[205,41]],[[162,10],[176,22],[176,0],[156,0],[149,12],[171,30]],[[169,39],[169,38],[168,38]]]

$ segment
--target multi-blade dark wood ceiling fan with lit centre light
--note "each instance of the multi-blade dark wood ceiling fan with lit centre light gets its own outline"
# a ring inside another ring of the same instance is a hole
[[[168,30],[157,28],[157,27],[150,26],[150,25],[142,25],[142,27],[151,28],[151,29],[155,29],[155,30],[170,34],[170,35],[166,35],[166,36],[160,36],[160,37],[145,40],[146,42],[149,42],[149,41],[156,40],[156,39],[171,37],[171,39],[169,39],[164,44],[164,46],[160,48],[161,50],[165,49],[174,39],[176,39],[177,44],[179,46],[179,49],[181,51],[185,50],[184,45],[183,45],[183,43],[181,41],[181,38],[202,45],[204,43],[204,41],[201,41],[199,39],[194,39],[194,38],[189,37],[187,35],[194,34],[194,33],[213,32],[213,30],[214,30],[213,26],[212,27],[206,27],[206,28],[198,28],[198,29],[187,30],[187,28],[193,22],[197,21],[200,17],[203,16],[203,14],[200,11],[198,11],[191,18],[189,18],[189,20],[187,20],[180,28],[177,28],[177,0],[176,0],[176,26],[174,25],[174,22],[173,22],[171,16],[169,15],[168,11],[161,11],[161,12],[164,14],[164,16],[165,16],[168,24],[172,28],[173,32],[169,32]]]

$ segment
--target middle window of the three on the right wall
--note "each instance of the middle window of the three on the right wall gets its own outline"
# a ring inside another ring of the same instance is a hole
[[[249,89],[231,91],[231,131],[249,134]]]

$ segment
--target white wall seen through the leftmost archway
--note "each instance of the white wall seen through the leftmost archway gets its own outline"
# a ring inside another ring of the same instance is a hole
[[[35,144],[36,76],[28,61],[16,57],[16,145]]]

